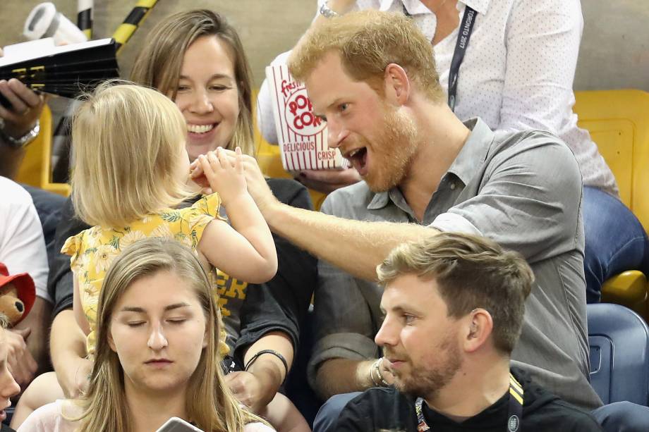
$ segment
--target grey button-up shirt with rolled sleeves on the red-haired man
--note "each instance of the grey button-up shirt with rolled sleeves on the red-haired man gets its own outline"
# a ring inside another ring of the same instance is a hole
[[[587,378],[582,181],[574,155],[548,132],[494,133],[479,118],[465,125],[471,135],[442,177],[423,221],[416,220],[398,188],[375,194],[365,182],[333,192],[322,211],[484,235],[523,254],[536,281],[512,362],[564,400],[598,407],[602,402]],[[327,359],[380,355],[374,336],[381,324],[382,289],[324,261],[319,273],[312,385]]]

